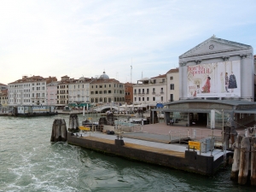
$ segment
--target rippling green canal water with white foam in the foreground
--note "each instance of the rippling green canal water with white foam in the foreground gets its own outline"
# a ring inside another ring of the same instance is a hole
[[[61,114],[0,117],[0,191],[255,191],[231,182],[230,167],[204,177],[50,143],[54,119],[68,125]]]

